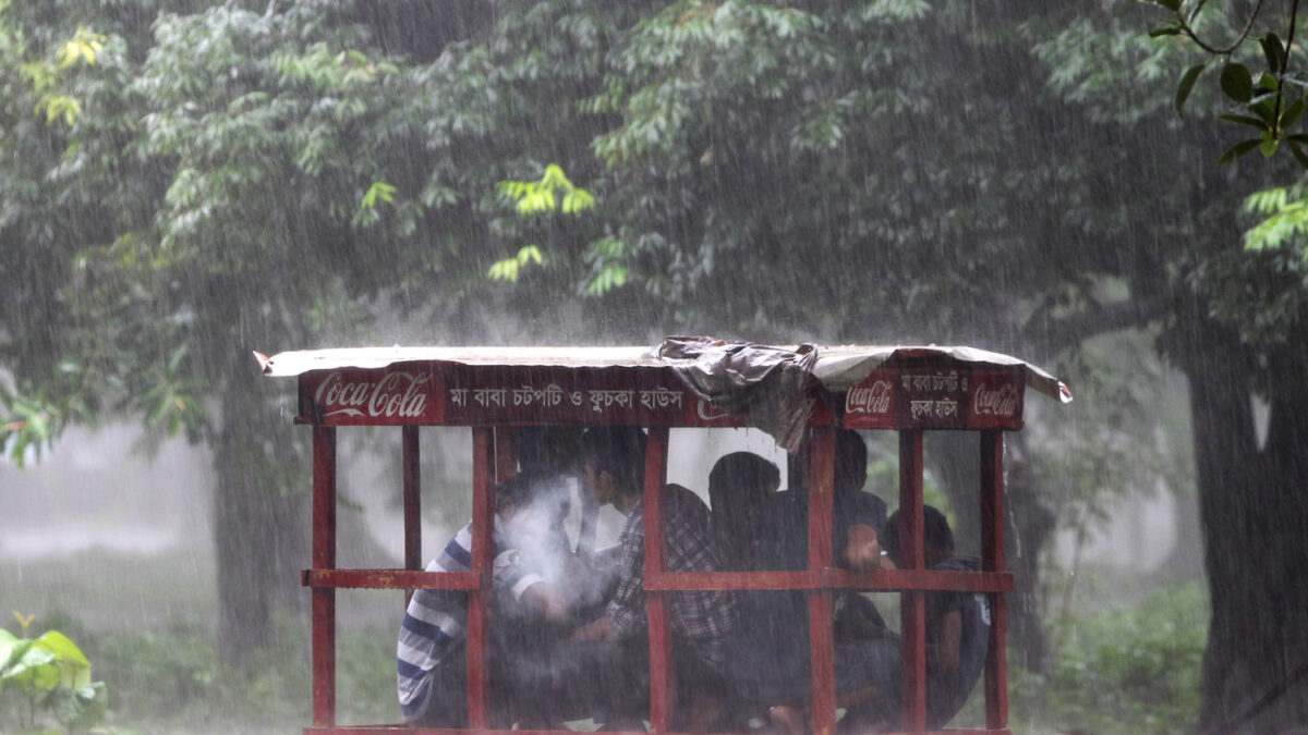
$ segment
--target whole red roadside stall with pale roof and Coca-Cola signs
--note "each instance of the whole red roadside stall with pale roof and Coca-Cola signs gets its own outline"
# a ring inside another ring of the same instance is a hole
[[[674,719],[666,595],[684,590],[802,590],[808,608],[811,731],[836,732],[833,592],[900,592],[903,721],[926,728],[925,594],[976,592],[991,625],[984,674],[985,728],[1008,732],[1003,558],[1003,433],[1020,430],[1027,391],[1057,402],[1071,394],[1048,373],[1014,357],[965,347],[776,348],[670,337],[647,347],[365,348],[255,353],[266,375],[298,381],[297,424],[313,432],[313,558],[302,573],[313,609],[313,725],[306,734],[422,731],[404,725],[336,725],[336,590],[460,590],[468,595],[468,731],[488,721],[487,615],[492,574],[494,484],[518,470],[511,429],[640,426],[647,430],[644,472],[645,575],[649,624],[650,730]],[[404,569],[336,566],[336,432],[395,426],[403,445]],[[420,426],[464,426],[472,436],[472,560],[466,573],[422,572]],[[808,488],[808,569],[672,573],[664,569],[661,489],[668,430],[759,428],[790,453],[791,476]],[[832,484],[837,429],[899,434],[899,507],[905,564],[854,573],[832,566]],[[980,433],[981,572],[923,565],[923,434]],[[433,732],[436,730],[432,730]],[[963,730],[951,730],[961,732]]]

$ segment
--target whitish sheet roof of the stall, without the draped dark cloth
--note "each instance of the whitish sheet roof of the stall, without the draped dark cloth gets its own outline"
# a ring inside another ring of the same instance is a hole
[[[1027,385],[1057,399],[1071,391],[1040,368],[998,352],[939,345],[818,345],[812,373],[831,391],[846,391],[891,357],[951,357],[984,365],[1020,365]],[[293,377],[310,370],[386,368],[398,362],[451,362],[479,366],[549,368],[666,368],[670,362],[650,347],[369,347],[255,353],[264,375]]]

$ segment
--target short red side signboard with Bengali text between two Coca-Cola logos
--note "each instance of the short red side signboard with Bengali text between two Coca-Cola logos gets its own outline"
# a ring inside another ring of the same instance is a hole
[[[1020,366],[889,366],[845,394],[850,429],[1020,429]]]

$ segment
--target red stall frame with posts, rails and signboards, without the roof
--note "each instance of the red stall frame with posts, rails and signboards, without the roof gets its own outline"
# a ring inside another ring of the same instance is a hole
[[[797,477],[806,477],[808,502],[808,569],[800,572],[670,573],[662,544],[646,544],[645,587],[650,645],[650,723],[668,732],[674,718],[672,638],[664,595],[679,590],[804,590],[810,612],[812,671],[811,708],[815,735],[836,728],[832,595],[838,589],[899,591],[903,625],[903,691],[905,726],[925,732],[926,659],[925,592],[984,592],[990,602],[990,649],[985,671],[986,727],[942,732],[1008,732],[1007,616],[1005,592],[1012,575],[1003,562],[1003,430],[1022,428],[1023,374],[1019,369],[906,356],[887,362],[844,395],[815,388],[815,411]],[[335,402],[335,403],[334,403]],[[551,413],[548,409],[559,408]],[[313,604],[313,726],[306,734],[488,731],[485,594],[490,589],[494,483],[517,464],[514,425],[627,424],[649,429],[644,475],[645,538],[662,539],[662,493],[667,472],[670,426],[740,425],[708,407],[667,370],[647,368],[496,368],[477,370],[441,362],[402,364],[382,369],[310,371],[300,377],[298,422],[313,425],[313,568],[302,573]],[[403,442],[405,569],[336,569],[336,429],[337,425],[399,425]],[[422,572],[420,528],[420,425],[466,425],[472,430],[472,565],[467,573]],[[900,513],[904,568],[855,574],[832,569],[833,459],[836,428],[876,428],[900,434]],[[922,443],[925,430],[969,429],[981,433],[982,572],[923,569]],[[468,591],[467,668],[468,730],[411,728],[400,725],[336,725],[337,589],[453,589]],[[531,732],[531,731],[522,731]],[[543,732],[540,734],[543,735]]]

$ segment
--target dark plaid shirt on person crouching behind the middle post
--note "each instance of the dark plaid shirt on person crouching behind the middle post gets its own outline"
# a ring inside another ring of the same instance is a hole
[[[709,532],[709,507],[680,485],[663,488],[664,569],[668,572],[722,572],[725,556]],[[645,630],[645,501],[627,518],[619,538],[617,591],[608,617],[621,636]],[[693,650],[714,668],[726,664],[726,636],[735,624],[735,595],[715,591],[671,592],[668,620],[672,634],[693,643]]]

